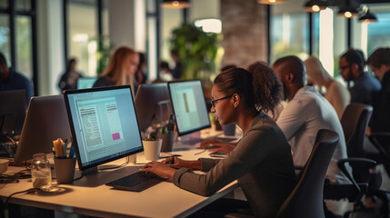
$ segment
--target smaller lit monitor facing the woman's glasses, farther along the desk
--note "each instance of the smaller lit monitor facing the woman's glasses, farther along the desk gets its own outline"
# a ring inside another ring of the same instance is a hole
[[[179,135],[211,126],[199,80],[169,82],[168,89]]]

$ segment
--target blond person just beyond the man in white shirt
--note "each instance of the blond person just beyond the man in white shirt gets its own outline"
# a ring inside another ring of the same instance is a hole
[[[325,86],[326,93],[324,97],[335,108],[338,119],[344,113],[345,107],[350,103],[351,96],[348,89],[330,76],[320,60],[315,56],[310,56],[305,60],[306,72],[309,81],[319,86],[319,90]]]

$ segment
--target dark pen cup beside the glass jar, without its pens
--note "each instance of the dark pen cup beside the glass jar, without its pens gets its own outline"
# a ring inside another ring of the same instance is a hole
[[[55,178],[57,183],[73,183],[75,158],[55,158]]]

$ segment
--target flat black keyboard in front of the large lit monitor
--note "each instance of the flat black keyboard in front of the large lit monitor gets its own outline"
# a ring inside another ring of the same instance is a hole
[[[117,179],[105,185],[112,186],[115,189],[122,189],[132,192],[142,192],[147,188],[161,183],[166,179],[156,175],[155,173],[137,172],[129,174],[125,177]]]

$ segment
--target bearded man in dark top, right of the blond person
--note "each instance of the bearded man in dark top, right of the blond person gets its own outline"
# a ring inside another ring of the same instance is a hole
[[[364,71],[365,58],[362,52],[351,49],[342,54],[339,61],[340,74],[348,83],[351,103],[373,105],[374,94],[381,89],[381,84],[372,75]],[[354,82],[354,85],[350,85]]]

